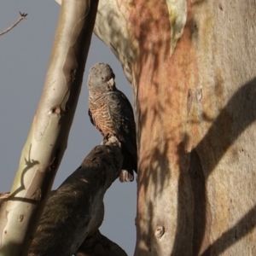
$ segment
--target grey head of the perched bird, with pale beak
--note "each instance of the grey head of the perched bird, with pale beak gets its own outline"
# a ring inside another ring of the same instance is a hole
[[[88,79],[89,93],[104,93],[116,90],[112,68],[106,63],[96,63],[90,68]]]

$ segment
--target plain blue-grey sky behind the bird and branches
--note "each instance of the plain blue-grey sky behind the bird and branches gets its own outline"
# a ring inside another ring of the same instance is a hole
[[[26,20],[0,37],[0,192],[11,189],[21,149],[38,107],[60,7],[54,0],[3,0],[0,3],[0,32],[19,19],[19,11],[28,14]],[[113,67],[117,87],[133,105],[131,85],[125,79],[119,61],[93,35],[78,108],[53,189],[80,166],[93,147],[102,142],[101,134],[90,124],[87,114],[86,83],[89,69],[96,62],[107,62]],[[105,216],[100,230],[128,255],[133,254],[136,241],[136,196],[136,181],[119,183],[117,179],[104,198]]]

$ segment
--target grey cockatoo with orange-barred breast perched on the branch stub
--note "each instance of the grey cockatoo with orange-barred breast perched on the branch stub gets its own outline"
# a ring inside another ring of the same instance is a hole
[[[131,103],[114,82],[112,68],[96,63],[90,68],[88,79],[90,121],[103,137],[117,137],[121,143],[123,166],[120,182],[133,181],[137,172],[136,125]]]

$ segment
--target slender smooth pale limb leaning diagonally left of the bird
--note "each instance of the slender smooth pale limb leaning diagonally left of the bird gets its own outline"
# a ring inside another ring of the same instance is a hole
[[[67,147],[95,22],[97,1],[62,4],[43,94],[0,212],[0,255],[26,255]]]

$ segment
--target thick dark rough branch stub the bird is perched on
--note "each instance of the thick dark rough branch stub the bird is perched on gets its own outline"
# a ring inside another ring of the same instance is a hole
[[[103,196],[119,177],[122,160],[119,147],[111,143],[91,150],[81,166],[49,196],[32,241],[30,256],[70,256],[83,242],[82,248],[91,249],[100,241],[103,248],[108,243],[115,251],[121,252],[112,241],[99,235],[98,228],[104,216]],[[95,241],[89,247],[85,240],[87,236],[95,237],[88,240],[90,245]]]

